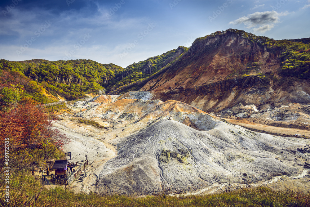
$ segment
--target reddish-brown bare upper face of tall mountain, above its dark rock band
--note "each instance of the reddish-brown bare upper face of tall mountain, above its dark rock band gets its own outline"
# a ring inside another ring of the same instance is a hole
[[[244,79],[240,75],[254,75],[259,72],[277,74],[280,67],[279,54],[269,53],[257,43],[251,43],[246,38],[228,32],[193,44],[181,61],[172,65],[166,73],[146,83],[141,91],[151,90],[156,94],[156,98],[168,98],[186,89],[197,90],[202,86],[213,87],[214,84],[226,85],[220,87],[223,90],[228,89],[227,85],[232,84],[234,88],[244,81],[257,84],[262,80]],[[193,100],[186,102],[191,101]],[[209,110],[212,107],[202,109]]]

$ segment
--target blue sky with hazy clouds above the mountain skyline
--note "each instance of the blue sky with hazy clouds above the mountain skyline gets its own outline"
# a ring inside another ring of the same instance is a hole
[[[0,58],[122,67],[229,28],[310,37],[310,0],[1,0]]]

